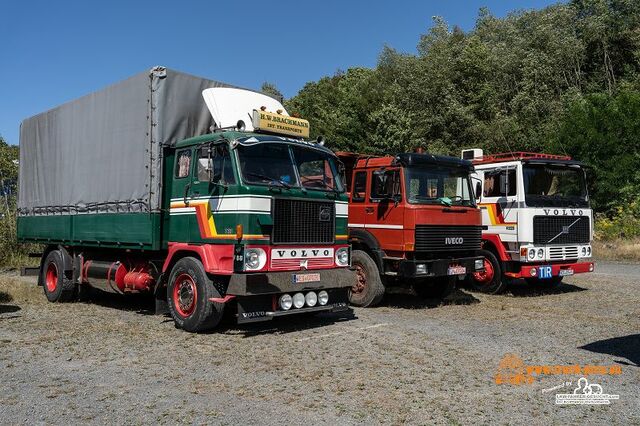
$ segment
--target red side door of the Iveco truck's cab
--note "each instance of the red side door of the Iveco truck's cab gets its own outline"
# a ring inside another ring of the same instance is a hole
[[[369,196],[364,207],[365,228],[385,251],[404,250],[404,207],[399,168],[369,173]]]

